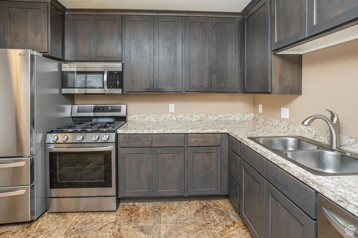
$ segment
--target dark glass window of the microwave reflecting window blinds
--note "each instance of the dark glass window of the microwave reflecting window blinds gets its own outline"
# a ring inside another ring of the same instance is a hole
[[[103,71],[62,71],[62,88],[103,88]]]

